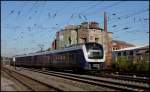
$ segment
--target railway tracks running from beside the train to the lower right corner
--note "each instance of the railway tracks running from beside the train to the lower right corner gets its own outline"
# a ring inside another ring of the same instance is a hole
[[[87,75],[77,75],[77,74],[70,74],[70,73],[62,73],[56,71],[41,71],[40,69],[30,69],[34,72],[39,72],[42,74],[67,78],[70,80],[80,81],[92,85],[108,87],[116,90],[123,90],[123,91],[148,91],[149,90],[149,83],[143,80],[133,80],[133,79],[117,79],[114,78],[106,78],[106,77],[94,77],[94,76],[87,76]],[[110,76],[109,76],[110,77]],[[116,80],[117,79],[117,80]]]

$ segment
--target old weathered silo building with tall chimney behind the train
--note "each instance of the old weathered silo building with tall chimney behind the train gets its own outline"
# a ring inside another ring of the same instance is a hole
[[[104,13],[104,29],[97,22],[83,22],[80,25],[68,25],[56,33],[52,49],[63,49],[73,44],[97,42],[103,45],[105,65],[112,60],[112,32],[107,31],[107,16]]]

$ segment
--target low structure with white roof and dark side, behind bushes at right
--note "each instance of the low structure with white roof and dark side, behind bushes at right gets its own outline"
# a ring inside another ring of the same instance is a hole
[[[149,46],[137,46],[115,50],[112,52],[112,62],[115,61],[146,61],[149,62]]]

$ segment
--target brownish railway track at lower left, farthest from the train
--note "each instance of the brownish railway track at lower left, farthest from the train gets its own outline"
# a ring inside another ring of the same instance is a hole
[[[18,73],[16,71],[4,67],[2,68],[2,72],[5,72],[12,79],[20,82],[29,91],[62,91],[61,89],[55,88],[52,85],[46,84],[44,82],[41,82],[39,80],[33,79],[24,74]]]

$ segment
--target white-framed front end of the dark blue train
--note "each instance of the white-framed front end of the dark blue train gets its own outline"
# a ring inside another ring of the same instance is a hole
[[[86,59],[86,70],[101,70],[104,66],[104,50],[103,46],[98,43],[86,43],[83,47]]]

